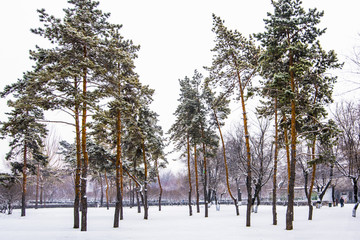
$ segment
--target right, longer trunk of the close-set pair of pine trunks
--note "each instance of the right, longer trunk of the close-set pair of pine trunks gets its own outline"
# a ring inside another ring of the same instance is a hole
[[[84,46],[84,58],[87,58],[87,48]],[[87,69],[84,68],[83,75],[83,106],[81,123],[81,149],[83,153],[83,164],[81,173],[81,231],[87,231],[87,172],[89,165],[89,156],[86,149],[86,115],[87,115]]]

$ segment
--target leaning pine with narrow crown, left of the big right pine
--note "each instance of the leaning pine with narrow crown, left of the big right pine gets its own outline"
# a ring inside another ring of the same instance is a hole
[[[224,21],[213,15],[213,32],[216,34],[216,45],[213,63],[210,68],[210,79],[224,89],[238,90],[244,121],[244,133],[247,155],[246,187],[248,202],[246,210],[246,226],[251,225],[251,151],[248,131],[247,111],[245,106],[246,91],[258,71],[260,49],[255,46],[252,38],[246,39],[237,30],[227,29]]]

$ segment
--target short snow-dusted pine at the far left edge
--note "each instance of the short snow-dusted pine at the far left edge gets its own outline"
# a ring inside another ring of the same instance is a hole
[[[13,108],[7,113],[8,121],[1,122],[2,137],[10,137],[10,151],[7,160],[16,160],[22,156],[22,162],[12,164],[14,172],[22,173],[21,216],[26,215],[27,175],[35,164],[44,164],[46,157],[42,154],[43,139],[46,137],[46,125],[39,121],[44,119],[41,107],[42,99],[37,94],[38,85],[33,82],[33,74],[25,73],[22,79],[5,87],[1,97],[13,95],[8,106]]]

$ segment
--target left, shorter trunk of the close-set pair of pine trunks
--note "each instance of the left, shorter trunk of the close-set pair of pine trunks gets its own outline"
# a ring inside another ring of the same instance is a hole
[[[75,89],[78,89],[78,81],[74,81]],[[81,175],[81,139],[79,103],[75,100],[75,134],[76,134],[76,173],[75,173],[75,199],[74,199],[74,228],[80,227],[80,175]]]

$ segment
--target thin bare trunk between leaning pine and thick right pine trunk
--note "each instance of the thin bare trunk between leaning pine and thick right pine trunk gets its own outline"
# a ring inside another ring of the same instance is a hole
[[[275,154],[274,154],[274,175],[273,175],[273,202],[272,202],[272,214],[273,214],[273,225],[277,225],[277,211],[276,211],[276,200],[277,200],[277,163],[279,154],[279,129],[278,129],[278,116],[277,116],[277,96],[275,97]]]

